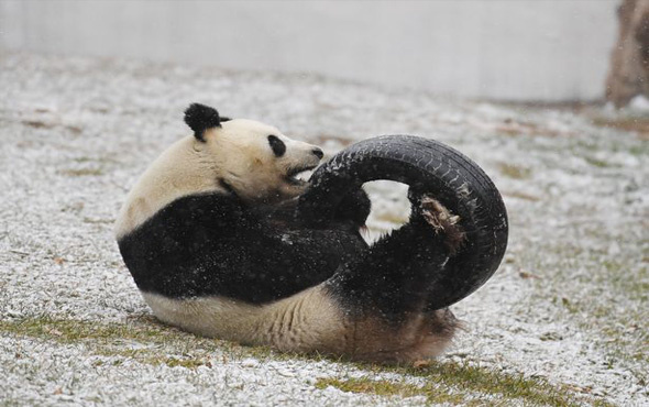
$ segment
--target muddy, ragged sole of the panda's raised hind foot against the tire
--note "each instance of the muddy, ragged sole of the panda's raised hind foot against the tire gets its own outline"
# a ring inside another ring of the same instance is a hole
[[[459,224],[460,217],[451,213],[430,196],[421,196],[419,199],[419,213],[436,234],[444,235],[444,244],[449,252],[457,253],[464,241],[464,231]]]

